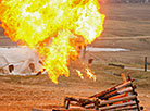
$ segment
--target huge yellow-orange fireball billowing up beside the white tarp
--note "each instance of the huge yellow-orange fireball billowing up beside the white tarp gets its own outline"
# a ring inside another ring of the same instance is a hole
[[[58,84],[70,76],[70,60],[78,46],[91,44],[103,30],[97,0],[0,0],[0,21],[13,41],[35,50]],[[89,72],[88,72],[89,73]]]

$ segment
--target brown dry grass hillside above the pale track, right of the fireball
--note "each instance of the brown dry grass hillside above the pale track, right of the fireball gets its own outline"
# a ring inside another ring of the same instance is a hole
[[[150,4],[103,4],[104,37],[150,36]]]

